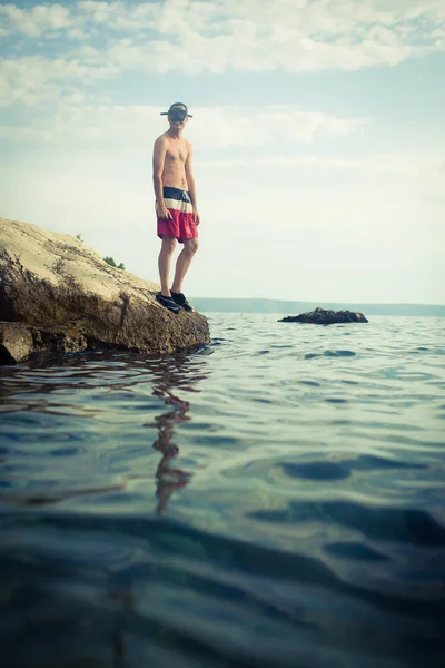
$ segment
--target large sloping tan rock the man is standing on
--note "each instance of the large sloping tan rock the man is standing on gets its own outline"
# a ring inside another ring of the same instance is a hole
[[[43,350],[168,354],[208,343],[207,320],[170,313],[158,291],[75,237],[0,218],[0,363]]]

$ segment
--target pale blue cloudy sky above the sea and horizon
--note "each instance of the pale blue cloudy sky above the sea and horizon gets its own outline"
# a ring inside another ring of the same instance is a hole
[[[158,282],[182,101],[187,295],[445,304],[444,0],[1,2],[0,58],[1,216]]]

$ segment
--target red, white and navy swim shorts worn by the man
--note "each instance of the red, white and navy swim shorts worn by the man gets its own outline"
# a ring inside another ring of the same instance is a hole
[[[172,219],[159,218],[158,237],[172,236],[184,244],[186,239],[196,239],[198,228],[195,224],[194,207],[187,190],[179,188],[162,188],[164,202],[171,214]]]

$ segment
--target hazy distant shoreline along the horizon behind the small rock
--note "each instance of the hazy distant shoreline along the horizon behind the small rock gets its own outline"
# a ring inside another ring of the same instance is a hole
[[[200,313],[285,313],[297,315],[313,311],[317,306],[359,311],[364,315],[405,315],[445,317],[445,305],[439,304],[362,304],[348,302],[289,302],[281,299],[212,298],[190,297],[190,302]]]

